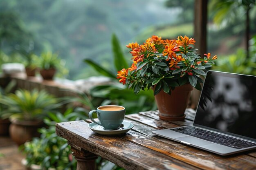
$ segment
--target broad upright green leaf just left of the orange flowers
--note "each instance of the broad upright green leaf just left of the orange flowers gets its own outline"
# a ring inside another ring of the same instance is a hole
[[[119,45],[119,41],[117,39],[117,36],[115,34],[112,34],[112,51],[114,54],[114,64],[117,71],[128,68],[128,64],[125,60],[124,54],[121,51],[121,47]]]

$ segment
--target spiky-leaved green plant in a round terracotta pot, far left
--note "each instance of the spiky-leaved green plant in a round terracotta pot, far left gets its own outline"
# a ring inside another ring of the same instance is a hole
[[[31,92],[19,89],[3,96],[0,103],[7,106],[1,115],[11,121],[9,133],[18,145],[38,136],[37,128],[45,126],[43,118],[61,105],[58,98],[36,89]]]

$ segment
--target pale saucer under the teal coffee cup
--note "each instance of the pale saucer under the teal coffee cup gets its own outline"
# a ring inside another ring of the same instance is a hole
[[[119,130],[104,130],[102,126],[99,126],[93,122],[88,124],[88,127],[95,133],[98,133],[101,135],[120,135],[125,132],[128,132],[131,128],[133,128],[133,124],[130,123],[129,121],[124,120],[123,124],[124,124],[124,127]]]

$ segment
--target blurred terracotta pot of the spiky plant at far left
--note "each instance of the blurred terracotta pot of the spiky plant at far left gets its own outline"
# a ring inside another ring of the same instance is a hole
[[[18,146],[24,144],[26,141],[31,141],[33,137],[40,137],[38,128],[44,127],[42,120],[18,120],[11,121],[9,133],[11,139],[16,142]]]

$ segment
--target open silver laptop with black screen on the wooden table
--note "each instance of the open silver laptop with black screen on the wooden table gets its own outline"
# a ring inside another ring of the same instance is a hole
[[[208,71],[192,126],[155,135],[219,155],[256,148],[256,76]]]

